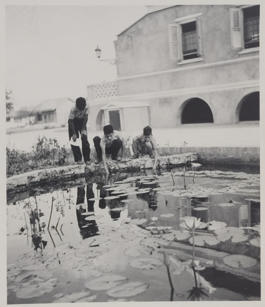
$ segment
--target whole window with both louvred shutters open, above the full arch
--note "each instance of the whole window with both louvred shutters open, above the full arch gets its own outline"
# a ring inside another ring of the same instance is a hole
[[[201,13],[176,19],[169,25],[171,60],[189,60],[202,55]]]

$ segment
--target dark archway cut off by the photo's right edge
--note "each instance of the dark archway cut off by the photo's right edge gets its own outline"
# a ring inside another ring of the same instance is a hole
[[[259,92],[245,96],[239,104],[239,122],[259,120]]]

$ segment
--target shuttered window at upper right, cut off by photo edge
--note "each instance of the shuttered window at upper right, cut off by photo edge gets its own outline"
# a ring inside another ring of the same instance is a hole
[[[233,49],[259,47],[259,5],[230,9]]]

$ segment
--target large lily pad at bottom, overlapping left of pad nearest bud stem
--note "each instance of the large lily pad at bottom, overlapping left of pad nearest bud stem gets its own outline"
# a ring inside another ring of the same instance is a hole
[[[128,278],[122,275],[103,275],[86,282],[85,286],[90,290],[108,290],[126,280]]]

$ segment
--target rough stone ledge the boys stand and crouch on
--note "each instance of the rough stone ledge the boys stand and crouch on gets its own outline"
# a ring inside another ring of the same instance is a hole
[[[197,161],[197,153],[187,152],[172,156],[159,156],[158,167],[168,167],[186,164],[188,161]],[[153,167],[154,159],[149,157],[138,158],[134,160],[127,159],[125,162],[112,161],[107,159],[109,171],[118,170],[143,170]],[[92,162],[89,165],[67,165],[45,170],[33,170],[28,173],[15,175],[7,178],[7,193],[14,190],[24,190],[26,187],[33,187],[49,182],[60,182],[73,180],[88,175],[92,175],[93,171],[104,171],[103,163]]]

